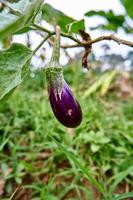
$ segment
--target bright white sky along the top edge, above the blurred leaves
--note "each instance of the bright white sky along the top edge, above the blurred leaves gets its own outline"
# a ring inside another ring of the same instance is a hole
[[[45,2],[76,19],[83,18],[84,13],[89,10],[113,9],[116,13],[124,12],[119,0],[45,0]]]

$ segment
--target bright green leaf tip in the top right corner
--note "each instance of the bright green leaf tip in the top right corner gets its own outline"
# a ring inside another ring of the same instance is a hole
[[[131,0],[121,0],[121,3],[125,7],[127,14],[133,18],[133,2]]]

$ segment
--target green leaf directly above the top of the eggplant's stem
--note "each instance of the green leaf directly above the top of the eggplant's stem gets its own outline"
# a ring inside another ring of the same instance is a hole
[[[59,25],[63,32],[67,32],[66,25],[74,22],[75,20],[63,12],[53,8],[50,4],[46,3],[42,7],[43,19],[51,25]]]

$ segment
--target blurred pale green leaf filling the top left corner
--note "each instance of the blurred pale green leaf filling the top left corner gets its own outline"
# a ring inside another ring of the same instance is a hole
[[[22,2],[24,4],[25,1],[22,0]],[[34,0],[32,2],[29,1],[29,3],[26,4],[27,5],[26,8],[24,7],[25,9],[23,11],[23,14],[21,14],[20,16],[16,16],[10,13],[1,13],[0,14],[0,39],[4,39],[7,36],[27,26],[29,21],[38,11],[41,3],[42,3],[42,0]],[[22,9],[22,5],[21,7],[19,6],[16,7],[16,11],[21,11],[21,9]]]

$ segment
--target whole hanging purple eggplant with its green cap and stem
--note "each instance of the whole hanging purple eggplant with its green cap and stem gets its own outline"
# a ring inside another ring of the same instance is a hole
[[[49,101],[55,117],[66,127],[75,128],[82,121],[80,104],[64,80],[60,57],[60,27],[56,27],[56,38],[51,60],[46,67]]]

